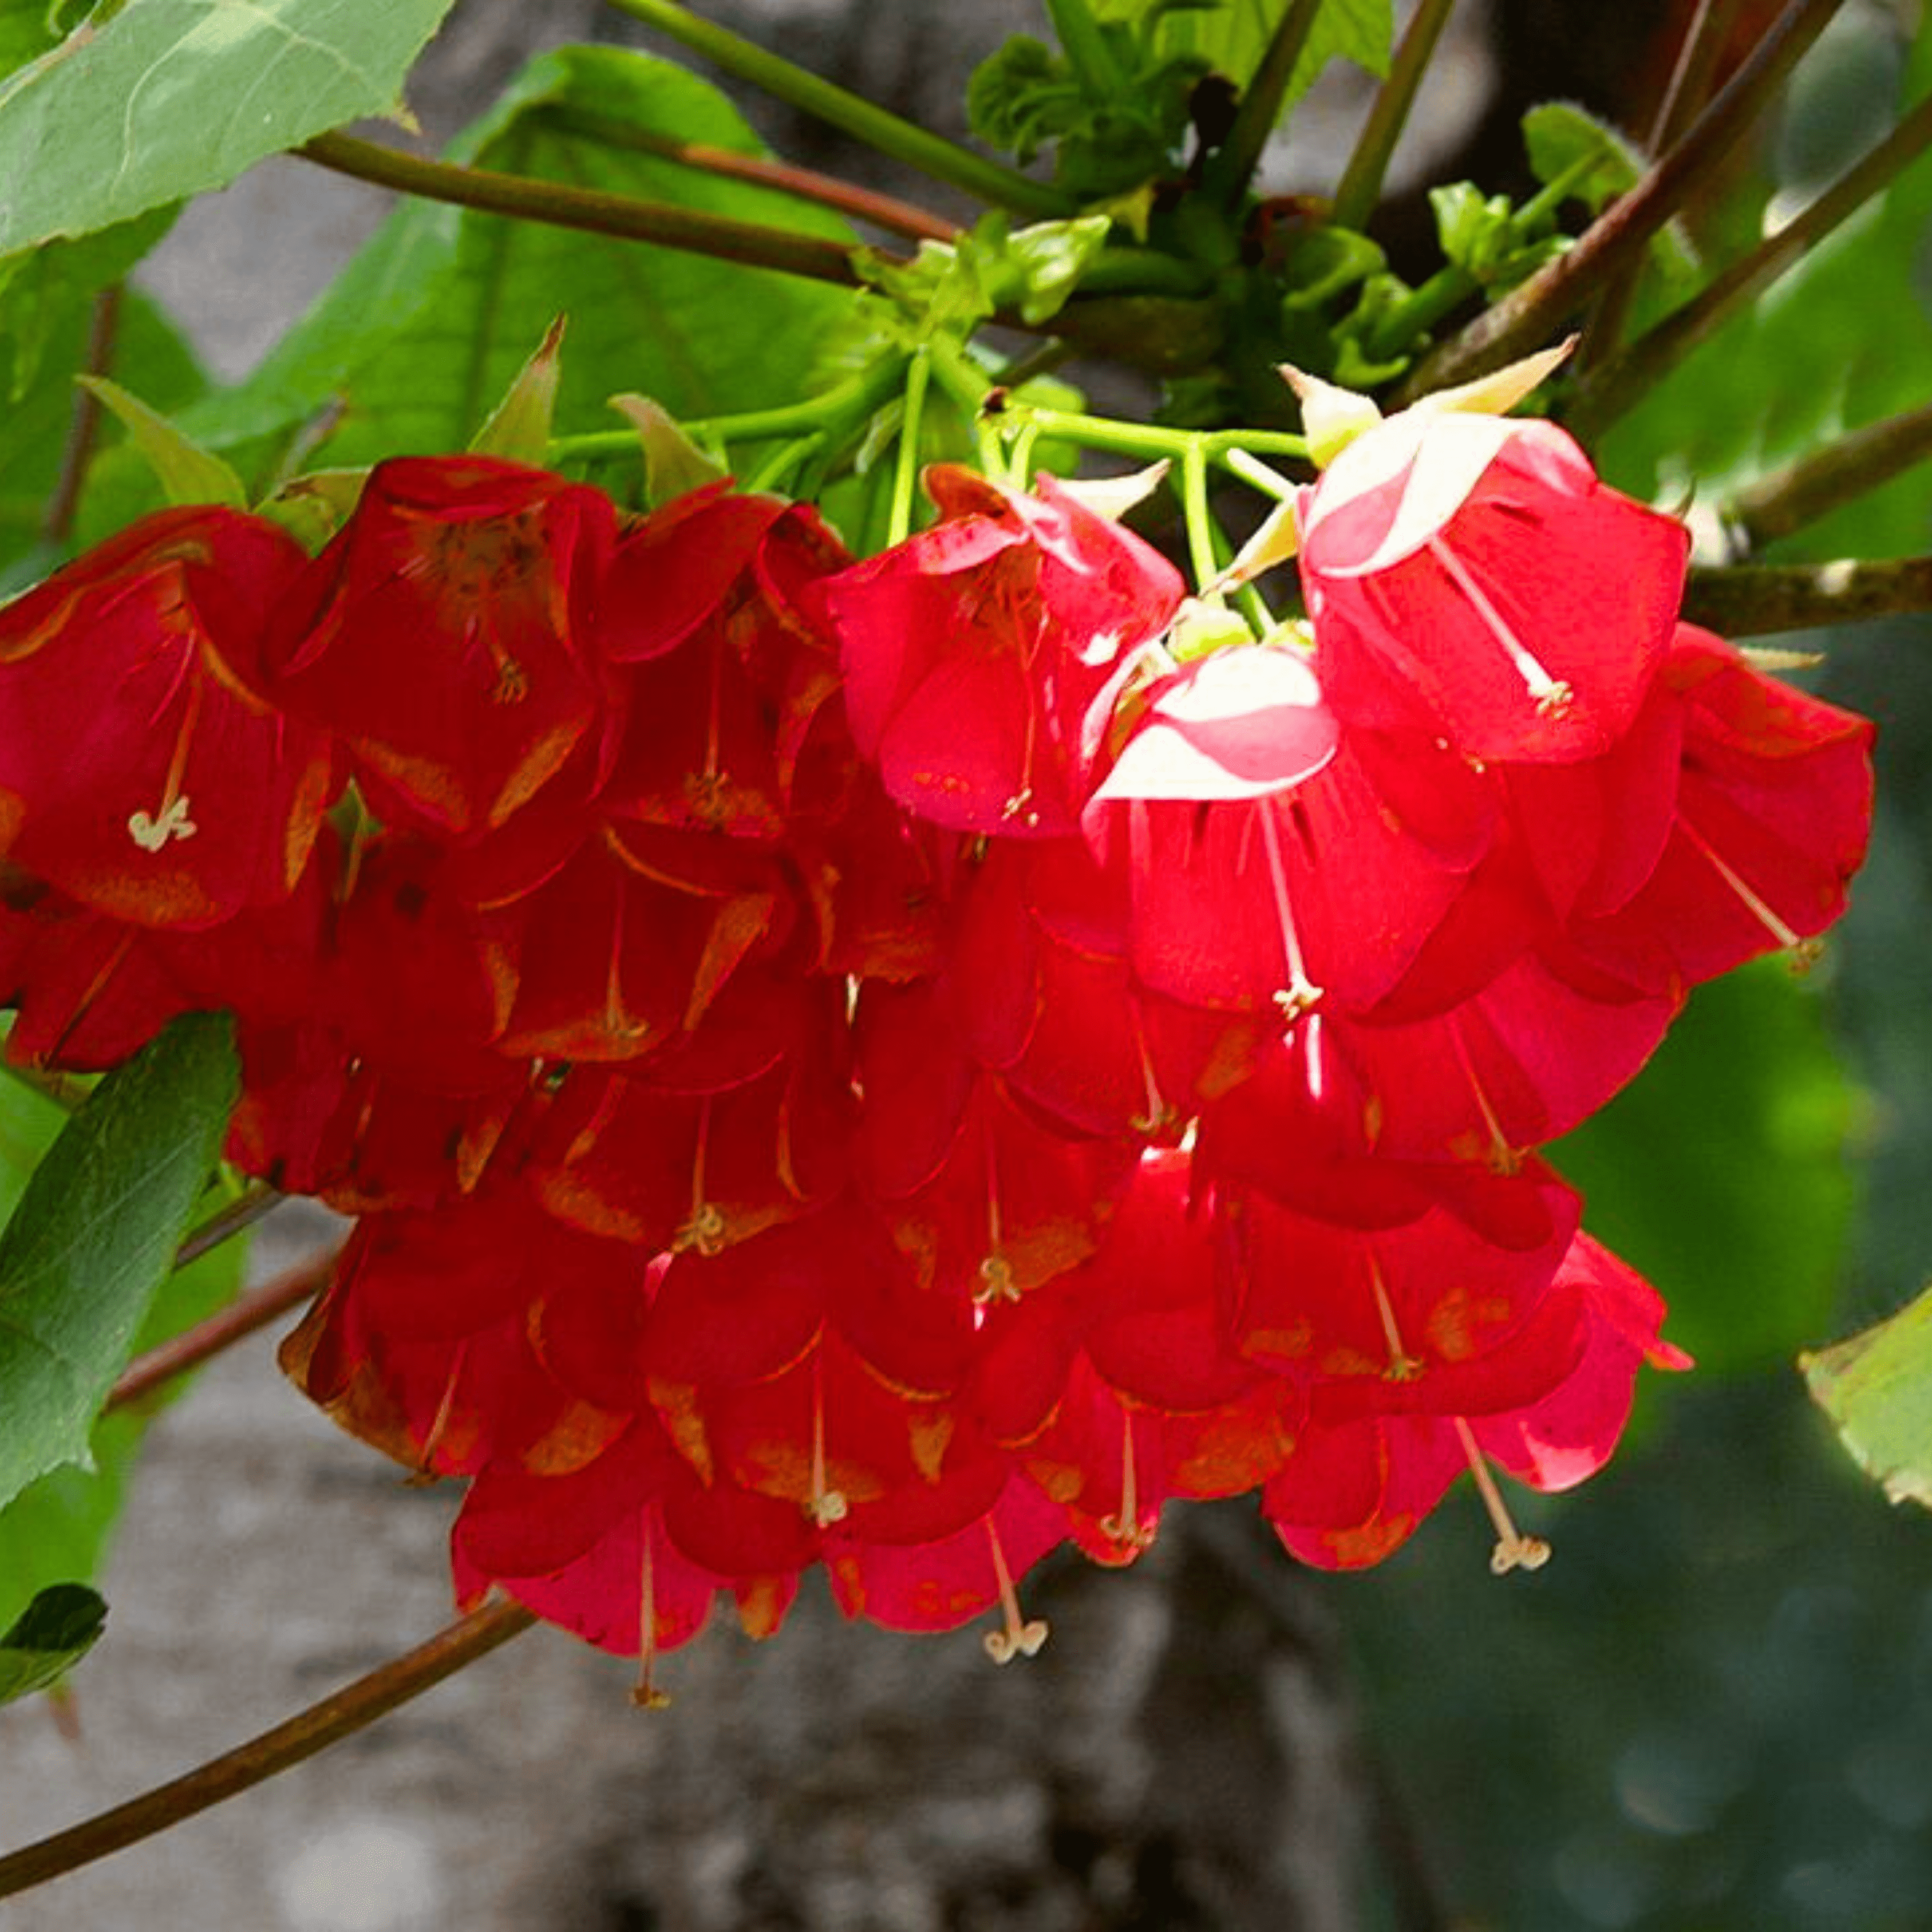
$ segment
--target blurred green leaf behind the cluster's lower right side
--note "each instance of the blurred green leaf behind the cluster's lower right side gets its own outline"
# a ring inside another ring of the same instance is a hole
[[[1743,1370],[1830,1320],[1855,1115],[1818,997],[1764,960],[1702,987],[1636,1084],[1551,1155],[1590,1231],[1671,1304],[1669,1339]]]

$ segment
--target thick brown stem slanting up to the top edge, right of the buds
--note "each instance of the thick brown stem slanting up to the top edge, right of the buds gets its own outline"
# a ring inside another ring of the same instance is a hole
[[[1611,286],[1737,145],[1783,85],[1799,56],[1824,33],[1843,0],[1791,0],[1721,93],[1644,178],[1619,195],[1577,240],[1493,309],[1445,342],[1403,384],[1401,402],[1466,383],[1549,342]]]

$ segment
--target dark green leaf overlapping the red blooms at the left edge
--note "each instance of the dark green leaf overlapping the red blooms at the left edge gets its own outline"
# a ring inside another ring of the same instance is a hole
[[[110,1072],[0,1235],[0,1503],[68,1463],[128,1358],[236,1097],[232,1024],[189,1014]]]

